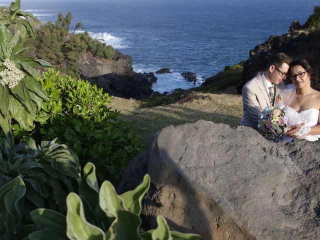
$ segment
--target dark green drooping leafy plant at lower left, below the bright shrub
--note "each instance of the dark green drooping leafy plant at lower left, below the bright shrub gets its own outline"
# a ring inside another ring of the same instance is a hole
[[[55,143],[56,139],[42,141],[38,146],[30,137],[23,139],[24,142],[14,145],[13,137],[0,138],[0,187],[21,176],[26,188],[23,201],[26,219],[37,207],[64,212],[67,193],[80,181],[76,154],[66,145]]]

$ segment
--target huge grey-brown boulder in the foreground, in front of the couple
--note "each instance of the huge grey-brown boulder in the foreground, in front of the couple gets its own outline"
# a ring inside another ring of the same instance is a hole
[[[318,142],[274,143],[249,127],[168,126],[142,157],[152,181],[143,215],[202,239],[319,239],[319,156]]]

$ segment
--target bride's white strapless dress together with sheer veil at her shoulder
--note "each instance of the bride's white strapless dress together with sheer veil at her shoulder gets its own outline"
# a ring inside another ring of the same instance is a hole
[[[283,108],[286,112],[286,125],[293,126],[303,122],[304,126],[315,126],[318,122],[319,110],[315,108],[309,108],[297,112],[292,107],[288,106],[291,103],[294,95],[295,86],[293,84],[290,84],[281,91],[281,101],[277,104],[279,108]],[[298,136],[298,138],[304,138],[308,141],[316,141],[320,138],[320,135],[307,134]]]

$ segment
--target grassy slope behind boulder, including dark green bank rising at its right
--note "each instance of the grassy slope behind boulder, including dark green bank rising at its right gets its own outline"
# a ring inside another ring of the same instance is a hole
[[[132,124],[142,142],[167,125],[200,119],[235,127],[242,116],[242,97],[234,94],[241,73],[242,69],[220,72],[212,84],[147,101],[113,97],[110,106],[121,111],[121,117]]]

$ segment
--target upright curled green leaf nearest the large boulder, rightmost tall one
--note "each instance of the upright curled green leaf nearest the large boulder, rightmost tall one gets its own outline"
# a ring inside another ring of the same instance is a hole
[[[150,187],[150,176],[145,174],[143,177],[143,181],[140,185],[138,185],[134,190],[124,192],[120,195],[123,199],[124,205],[130,211],[140,215],[141,212],[141,201],[145,194],[145,192]]]

